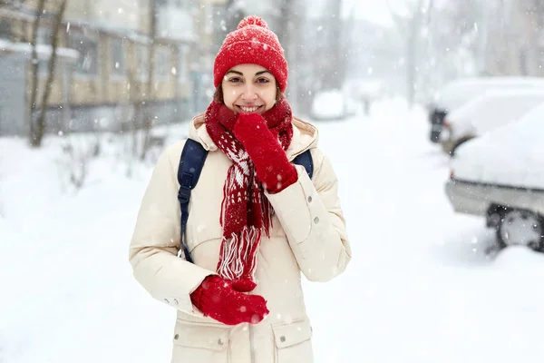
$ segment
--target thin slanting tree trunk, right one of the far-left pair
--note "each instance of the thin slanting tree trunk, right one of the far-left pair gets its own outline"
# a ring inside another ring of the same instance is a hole
[[[35,129],[35,138],[33,139],[32,146],[39,147],[42,144],[42,139],[44,138],[45,132],[45,110],[47,109],[47,103],[49,102],[49,95],[51,94],[51,89],[53,88],[54,81],[54,71],[56,68],[56,59],[57,59],[57,46],[58,46],[58,34],[61,25],[63,24],[64,11],[66,10],[67,0],[63,0],[59,7],[59,10],[54,18],[53,32],[51,34],[51,58],[49,59],[48,64],[48,73],[47,80],[44,85],[44,93],[42,94],[42,103],[39,110],[39,116],[37,118],[36,129]]]

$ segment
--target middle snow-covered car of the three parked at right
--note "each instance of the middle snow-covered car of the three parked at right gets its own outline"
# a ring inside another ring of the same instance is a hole
[[[442,150],[453,156],[463,142],[517,121],[539,103],[544,103],[544,88],[483,93],[448,114],[443,123]]]

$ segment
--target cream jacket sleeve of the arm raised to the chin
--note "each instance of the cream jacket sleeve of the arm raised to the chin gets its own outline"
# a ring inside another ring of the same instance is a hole
[[[333,167],[317,149],[312,156],[314,182],[303,166],[296,165],[298,181],[276,194],[267,193],[267,198],[306,279],[324,282],[345,270],[351,248]]]

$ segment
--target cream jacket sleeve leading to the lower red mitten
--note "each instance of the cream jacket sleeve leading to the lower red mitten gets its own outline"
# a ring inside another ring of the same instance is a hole
[[[180,152],[171,149],[170,152],[180,155]],[[169,150],[160,155],[141,201],[129,259],[135,279],[153,298],[202,317],[199,310],[192,306],[189,294],[214,272],[178,257],[180,204],[179,184],[174,173],[178,163],[179,158],[175,161],[174,169]]]

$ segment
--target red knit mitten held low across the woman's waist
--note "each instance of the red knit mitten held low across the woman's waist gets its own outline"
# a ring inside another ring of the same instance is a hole
[[[232,289],[230,281],[209,275],[190,294],[193,305],[205,316],[227,325],[257,324],[269,313],[267,300]]]

